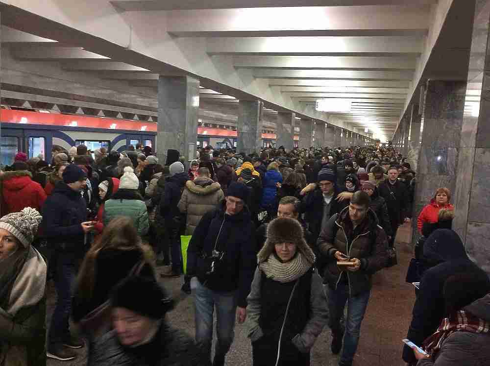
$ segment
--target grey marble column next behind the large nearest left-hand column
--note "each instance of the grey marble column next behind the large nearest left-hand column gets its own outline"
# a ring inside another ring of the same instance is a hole
[[[261,101],[240,100],[238,104],[238,149],[251,154],[262,146]]]

